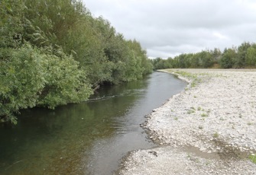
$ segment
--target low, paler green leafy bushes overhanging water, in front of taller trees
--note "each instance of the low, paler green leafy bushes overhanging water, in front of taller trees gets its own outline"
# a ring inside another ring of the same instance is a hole
[[[14,122],[13,112],[28,107],[57,105],[86,100],[92,90],[72,57],[45,54],[25,45],[2,49],[0,116]]]

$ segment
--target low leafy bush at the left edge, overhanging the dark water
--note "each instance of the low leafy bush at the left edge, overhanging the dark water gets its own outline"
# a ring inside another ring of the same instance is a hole
[[[13,112],[34,107],[44,88],[41,57],[31,47],[1,50],[0,116],[13,118]]]

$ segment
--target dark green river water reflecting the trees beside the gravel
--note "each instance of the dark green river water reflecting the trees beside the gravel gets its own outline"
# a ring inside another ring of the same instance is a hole
[[[0,174],[112,174],[128,151],[154,147],[139,124],[185,86],[154,72],[85,103],[24,110],[17,126],[0,125]]]

